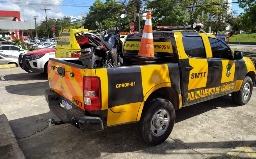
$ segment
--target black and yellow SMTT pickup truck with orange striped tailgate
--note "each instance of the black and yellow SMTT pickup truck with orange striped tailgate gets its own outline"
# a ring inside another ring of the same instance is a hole
[[[136,61],[141,37],[127,36],[126,66],[87,68],[50,58],[45,97],[52,112],[84,131],[136,123],[141,139],[157,145],[171,133],[175,110],[226,94],[239,105],[251,98],[254,63],[214,35],[153,32],[151,64]]]

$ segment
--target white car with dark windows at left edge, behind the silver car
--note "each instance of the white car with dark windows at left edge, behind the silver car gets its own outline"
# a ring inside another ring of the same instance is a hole
[[[29,52],[29,51],[23,50],[23,49],[19,48],[18,46],[13,46],[13,45],[1,45],[0,46],[0,53],[5,54],[5,55],[12,55],[12,56],[15,56],[16,58],[18,58],[20,54],[23,54],[25,52]]]

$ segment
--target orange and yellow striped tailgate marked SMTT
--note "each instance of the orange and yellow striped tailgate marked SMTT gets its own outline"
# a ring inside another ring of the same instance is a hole
[[[83,78],[85,70],[84,66],[54,58],[50,58],[48,63],[50,88],[83,110]],[[62,100],[65,101],[65,99]]]

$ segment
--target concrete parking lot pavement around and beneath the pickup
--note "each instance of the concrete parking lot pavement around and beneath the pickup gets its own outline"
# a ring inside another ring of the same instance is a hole
[[[133,124],[84,132],[73,125],[47,126],[41,74],[0,70],[0,106],[27,159],[41,158],[256,158],[256,87],[247,105],[229,95],[176,111],[169,138],[158,146],[140,141]]]

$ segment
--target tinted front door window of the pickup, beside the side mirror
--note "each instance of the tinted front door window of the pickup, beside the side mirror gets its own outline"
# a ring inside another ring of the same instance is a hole
[[[212,48],[212,57],[213,58],[224,58],[232,59],[231,51],[222,41],[215,38],[209,38],[209,42]]]

